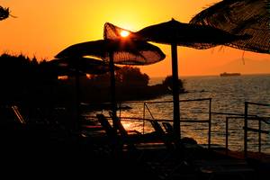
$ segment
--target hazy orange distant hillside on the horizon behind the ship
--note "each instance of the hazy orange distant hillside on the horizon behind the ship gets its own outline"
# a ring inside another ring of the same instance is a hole
[[[220,75],[222,72],[238,72],[241,74],[270,74],[270,59],[253,60],[250,58],[238,58],[229,63],[206,70],[212,75]]]

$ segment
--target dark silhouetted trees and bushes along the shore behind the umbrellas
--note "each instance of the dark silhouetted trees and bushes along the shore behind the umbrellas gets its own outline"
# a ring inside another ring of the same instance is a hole
[[[33,106],[68,104],[76,101],[76,78],[58,79],[58,72],[48,61],[23,55],[0,56],[1,103],[27,103]],[[139,67],[124,66],[115,72],[117,101],[146,100],[170,94],[171,77],[162,84],[148,85],[149,77]],[[111,100],[110,74],[79,77],[79,95],[84,103],[103,103]],[[184,92],[179,80],[181,92]],[[181,93],[180,92],[180,93]]]

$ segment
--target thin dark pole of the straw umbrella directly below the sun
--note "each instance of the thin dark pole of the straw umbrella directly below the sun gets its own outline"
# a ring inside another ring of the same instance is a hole
[[[112,123],[113,127],[115,127],[116,124],[116,99],[115,99],[115,75],[114,75],[114,64],[113,64],[113,52],[110,52],[110,73],[111,73],[111,101],[112,101]]]

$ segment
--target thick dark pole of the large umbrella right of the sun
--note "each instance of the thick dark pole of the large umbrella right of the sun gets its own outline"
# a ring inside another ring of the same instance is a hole
[[[174,100],[174,131],[175,138],[181,139],[180,130],[180,103],[179,103],[179,78],[177,63],[177,44],[171,44],[172,71],[173,71],[173,100]]]

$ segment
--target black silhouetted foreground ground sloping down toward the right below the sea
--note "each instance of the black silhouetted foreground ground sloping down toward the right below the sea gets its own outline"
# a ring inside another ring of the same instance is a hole
[[[263,179],[269,175],[269,163],[227,157],[200,147],[194,139],[182,139],[180,148],[177,139],[170,141],[171,146],[163,143],[165,139],[157,141],[158,146],[129,141],[136,148],[124,143],[115,151],[112,143],[121,143],[122,133],[117,141],[104,129],[99,135],[83,136],[59,123],[28,121],[20,111],[14,112],[1,107],[1,170],[11,178]]]

